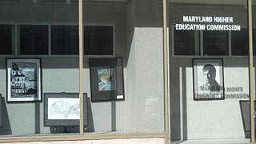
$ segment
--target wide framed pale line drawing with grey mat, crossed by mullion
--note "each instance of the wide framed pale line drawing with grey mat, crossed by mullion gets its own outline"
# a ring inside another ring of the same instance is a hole
[[[83,123],[88,124],[87,94],[83,94]],[[44,126],[79,126],[80,99],[78,93],[45,93]]]

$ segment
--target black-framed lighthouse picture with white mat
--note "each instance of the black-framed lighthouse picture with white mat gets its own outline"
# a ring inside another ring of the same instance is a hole
[[[6,58],[7,102],[42,102],[40,58]]]

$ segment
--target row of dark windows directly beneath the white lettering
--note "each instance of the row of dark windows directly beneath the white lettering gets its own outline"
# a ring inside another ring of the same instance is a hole
[[[255,35],[255,29],[253,30]],[[174,30],[174,55],[248,55],[248,30]],[[254,48],[254,55],[256,49]]]

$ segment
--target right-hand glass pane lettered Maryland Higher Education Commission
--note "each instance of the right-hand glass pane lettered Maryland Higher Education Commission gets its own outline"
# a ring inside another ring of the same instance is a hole
[[[170,50],[170,140],[250,143],[247,1],[168,2],[169,29],[186,31],[183,42],[198,30],[202,52],[176,57]],[[169,36],[175,46],[178,35]]]

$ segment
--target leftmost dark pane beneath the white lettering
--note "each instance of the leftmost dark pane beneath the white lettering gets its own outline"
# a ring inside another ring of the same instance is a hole
[[[198,55],[199,36],[195,30],[174,30],[174,54]]]

